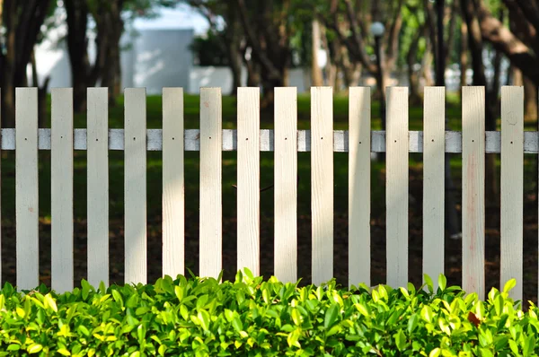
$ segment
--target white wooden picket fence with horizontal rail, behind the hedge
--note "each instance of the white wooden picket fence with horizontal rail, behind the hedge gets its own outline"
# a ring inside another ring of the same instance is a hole
[[[86,150],[88,280],[109,280],[108,152],[125,152],[125,281],[146,283],[146,151],[163,151],[163,274],[184,273],[183,152],[200,151],[199,274],[223,268],[222,151],[237,150],[237,266],[260,269],[260,152],[275,152],[275,275],[297,276],[297,152],[311,154],[312,281],[333,276],[333,152],[349,152],[349,283],[370,284],[371,152],[386,152],[387,283],[408,281],[409,152],[423,152],[423,272],[444,272],[444,152],[462,152],[463,286],[485,294],[484,157],[501,152],[501,281],[517,279],[522,299],[523,154],[539,133],[524,132],[522,87],[503,87],[501,132],[484,130],[482,87],[464,87],[460,132],[445,131],[445,89],[428,87],[424,131],[408,130],[408,89],[387,89],[387,133],[371,131],[370,90],[350,88],[349,131],[333,130],[332,90],[311,90],[311,130],[297,130],[295,88],[275,92],[275,130],[260,129],[258,88],[239,88],[237,131],[223,130],[221,91],[200,90],[200,130],[183,127],[183,91],[163,89],[163,130],[146,129],[145,89],[125,91],[125,129],[108,128],[107,90],[88,89],[87,129],[74,129],[71,89],[52,91],[51,129],[38,128],[38,92],[16,90],[16,129],[2,129],[2,150],[16,147],[17,286],[39,283],[38,150],[51,151],[51,284],[73,289],[73,150]]]

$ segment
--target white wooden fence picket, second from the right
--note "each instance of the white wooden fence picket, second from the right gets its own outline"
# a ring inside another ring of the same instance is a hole
[[[485,295],[485,90],[463,87],[463,289]]]

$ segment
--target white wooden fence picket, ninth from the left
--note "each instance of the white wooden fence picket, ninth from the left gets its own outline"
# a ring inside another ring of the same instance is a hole
[[[333,90],[311,88],[312,281],[333,277]]]

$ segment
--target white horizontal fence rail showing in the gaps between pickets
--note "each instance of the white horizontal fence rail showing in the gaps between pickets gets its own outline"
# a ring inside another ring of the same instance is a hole
[[[0,129],[2,138],[2,150],[15,150],[15,130],[13,128]],[[40,128],[38,130],[38,149],[50,150],[50,129]],[[311,152],[311,130],[297,130],[297,152]],[[409,131],[409,152],[424,152],[423,132]],[[74,130],[75,150],[88,150],[86,129]],[[235,129],[223,129],[222,151],[235,152],[238,150],[238,135]],[[186,152],[200,151],[200,130],[185,129],[184,145]],[[445,152],[463,152],[463,135],[461,132],[445,132]],[[385,152],[385,132],[373,130],[371,132],[371,152]],[[123,151],[125,149],[124,129],[109,129],[109,150]],[[149,152],[159,152],[163,150],[163,130],[146,129],[146,150]],[[271,129],[260,130],[260,151],[275,151],[275,134]],[[349,152],[349,131],[333,130],[333,152]],[[485,152],[501,152],[501,132],[485,131]],[[539,152],[539,133],[532,131],[524,132],[524,153]]]

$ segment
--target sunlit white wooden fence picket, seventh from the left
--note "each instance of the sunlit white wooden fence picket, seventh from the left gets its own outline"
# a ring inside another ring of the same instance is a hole
[[[238,88],[237,269],[260,275],[260,89]]]

